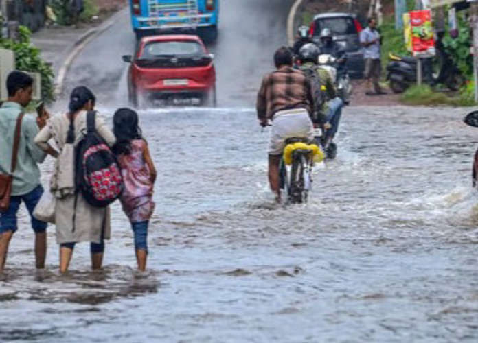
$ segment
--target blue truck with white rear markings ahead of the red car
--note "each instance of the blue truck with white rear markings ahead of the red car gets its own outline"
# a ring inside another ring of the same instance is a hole
[[[218,35],[219,0],[129,0],[138,39],[152,34],[194,32],[206,43]]]

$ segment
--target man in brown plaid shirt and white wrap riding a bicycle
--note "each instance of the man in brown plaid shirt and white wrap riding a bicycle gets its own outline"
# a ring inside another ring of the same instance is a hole
[[[279,167],[285,141],[291,137],[314,139],[310,120],[314,108],[310,82],[306,75],[293,68],[293,56],[288,47],[280,47],[274,54],[276,71],[262,79],[258,93],[257,111],[261,126],[272,121],[269,139],[269,184],[280,202]]]

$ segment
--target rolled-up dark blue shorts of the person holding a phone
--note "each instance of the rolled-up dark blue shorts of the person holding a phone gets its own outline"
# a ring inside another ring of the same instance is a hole
[[[40,201],[42,194],[43,187],[38,185],[33,191],[30,191],[30,193],[24,194],[23,196],[12,196],[12,198],[10,198],[10,207],[8,207],[8,210],[4,213],[0,213],[0,234],[8,231],[15,232],[18,230],[16,213],[19,211],[22,201],[25,206],[27,206],[28,213],[30,213],[34,232],[44,233],[45,230],[47,230],[48,224],[41,220],[37,220],[33,216],[33,211]]]

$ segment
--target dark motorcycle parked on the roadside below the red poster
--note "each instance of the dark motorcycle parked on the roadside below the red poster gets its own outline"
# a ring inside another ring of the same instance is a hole
[[[458,91],[464,84],[464,78],[456,65],[445,54],[439,54],[440,71],[433,73],[431,59],[422,62],[422,75],[424,82],[435,86],[445,84],[451,91]],[[417,59],[406,56],[389,54],[387,64],[387,80],[394,93],[403,93],[409,86],[417,82]]]

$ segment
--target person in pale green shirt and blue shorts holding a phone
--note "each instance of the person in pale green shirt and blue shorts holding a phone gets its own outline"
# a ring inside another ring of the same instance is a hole
[[[8,101],[0,108],[0,174],[10,174],[16,121],[32,100],[33,79],[21,71],[12,71],[7,78]],[[40,169],[47,155],[34,143],[39,129],[45,126],[47,115],[25,115],[21,122],[19,150],[13,173],[12,197],[7,211],[0,213],[0,274],[5,268],[8,246],[17,230],[16,213],[25,204],[35,233],[35,260],[38,272],[45,268],[47,252],[47,223],[36,220],[32,213],[43,194]],[[50,151],[49,151],[50,152]]]

